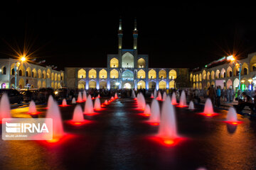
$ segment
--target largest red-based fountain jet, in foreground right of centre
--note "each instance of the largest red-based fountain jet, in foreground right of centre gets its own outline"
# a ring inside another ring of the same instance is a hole
[[[158,136],[161,137],[165,145],[174,145],[175,140],[178,138],[176,115],[169,96],[164,101],[161,109],[161,123]]]

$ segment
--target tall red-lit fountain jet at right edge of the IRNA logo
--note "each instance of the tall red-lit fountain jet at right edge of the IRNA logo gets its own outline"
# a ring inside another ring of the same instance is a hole
[[[57,142],[64,135],[63,122],[58,108],[58,103],[53,101],[46,112],[46,118],[53,119],[53,140],[50,142]]]

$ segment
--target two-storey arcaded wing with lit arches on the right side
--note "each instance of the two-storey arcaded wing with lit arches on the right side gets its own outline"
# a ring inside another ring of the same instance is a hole
[[[239,72],[241,72],[242,90],[255,89],[256,85],[256,52],[239,60],[242,67],[227,59],[215,61],[208,67],[194,69],[190,73],[190,81],[193,89],[208,89],[210,85],[221,86],[222,89],[238,89]]]

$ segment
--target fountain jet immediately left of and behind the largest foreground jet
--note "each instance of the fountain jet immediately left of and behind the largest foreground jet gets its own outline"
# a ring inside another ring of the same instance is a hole
[[[150,125],[159,125],[160,122],[160,107],[159,102],[154,99],[151,103],[151,110],[150,110],[150,117],[149,117],[149,124]]]

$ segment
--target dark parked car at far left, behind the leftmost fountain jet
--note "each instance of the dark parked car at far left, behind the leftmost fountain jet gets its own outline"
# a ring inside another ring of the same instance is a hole
[[[16,89],[0,89],[0,97],[3,94],[7,94],[11,104],[22,103],[23,95],[20,94]]]

